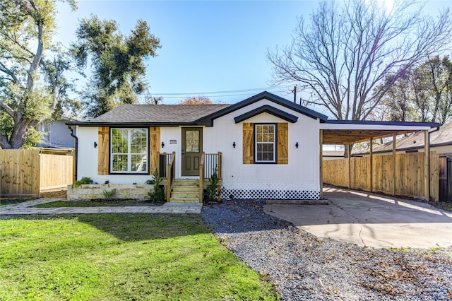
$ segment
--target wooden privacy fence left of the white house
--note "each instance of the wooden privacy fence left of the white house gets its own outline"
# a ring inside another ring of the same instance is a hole
[[[0,196],[39,197],[73,181],[73,151],[0,150]]]

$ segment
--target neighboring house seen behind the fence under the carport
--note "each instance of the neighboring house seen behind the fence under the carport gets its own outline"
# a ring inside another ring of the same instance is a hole
[[[452,153],[452,122],[430,131],[430,151],[436,153]],[[417,132],[409,136],[396,139],[396,153],[417,153],[424,151],[424,133]],[[374,155],[387,155],[393,151],[393,142],[374,146]],[[369,150],[353,152],[352,155],[369,155]]]

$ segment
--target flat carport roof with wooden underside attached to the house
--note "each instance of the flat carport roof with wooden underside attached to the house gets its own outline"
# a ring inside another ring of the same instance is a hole
[[[432,122],[374,122],[358,120],[326,120],[320,124],[323,144],[353,144],[393,135],[426,131],[441,124]]]

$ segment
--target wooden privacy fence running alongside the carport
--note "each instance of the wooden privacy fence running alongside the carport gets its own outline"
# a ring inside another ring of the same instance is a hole
[[[370,157],[350,158],[350,178],[348,159],[324,160],[322,179],[325,184],[339,187],[349,187],[350,181],[352,189],[424,196],[424,156],[425,153],[401,153],[396,154],[393,160],[392,155],[374,155],[372,166]],[[396,163],[395,169],[393,162]],[[393,175],[393,170],[396,170],[396,175]],[[430,197],[439,199],[439,157],[436,152],[430,152],[429,187]]]

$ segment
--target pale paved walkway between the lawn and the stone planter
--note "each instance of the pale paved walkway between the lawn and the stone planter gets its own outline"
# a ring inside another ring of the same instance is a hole
[[[33,208],[40,203],[61,199],[36,199],[13,205],[0,206],[0,215],[27,214],[85,214],[85,213],[201,213],[202,203],[164,203],[163,206],[105,206]]]

